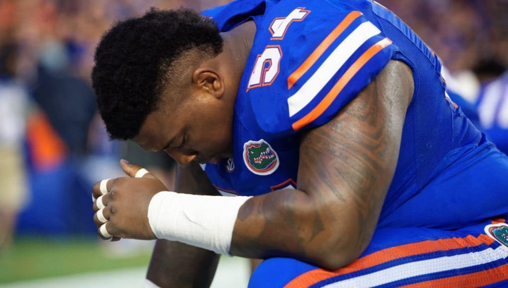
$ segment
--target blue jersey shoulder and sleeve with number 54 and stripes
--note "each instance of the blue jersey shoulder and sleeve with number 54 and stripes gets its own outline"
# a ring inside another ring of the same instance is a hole
[[[266,11],[244,78],[266,133],[329,122],[390,61],[397,47],[362,5],[285,1]]]

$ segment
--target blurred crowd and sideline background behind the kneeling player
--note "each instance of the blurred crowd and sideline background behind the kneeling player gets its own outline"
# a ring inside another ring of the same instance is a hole
[[[152,167],[173,185],[169,157],[108,141],[90,88],[94,48],[112,23],[149,7],[203,10],[227,2],[0,0],[0,246],[15,227],[94,233],[91,184],[121,175],[120,158]],[[507,0],[378,2],[440,56],[472,106],[504,73]]]

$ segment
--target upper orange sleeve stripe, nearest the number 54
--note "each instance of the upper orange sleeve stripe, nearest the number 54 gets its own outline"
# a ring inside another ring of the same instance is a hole
[[[319,46],[310,54],[310,56],[298,67],[293,74],[288,77],[288,89],[291,89],[293,85],[312,67],[312,65],[319,59],[321,55],[330,47],[330,45],[339,37],[339,35],[353,22],[356,18],[360,17],[362,13],[353,11],[347,14],[346,18],[340,22],[340,24],[328,34],[328,36],[321,42]]]

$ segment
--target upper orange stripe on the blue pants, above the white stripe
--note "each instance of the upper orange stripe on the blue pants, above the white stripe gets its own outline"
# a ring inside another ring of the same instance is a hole
[[[436,251],[446,251],[464,247],[476,247],[481,244],[490,245],[494,241],[495,241],[494,239],[487,237],[484,234],[480,234],[478,238],[468,235],[464,238],[426,240],[416,243],[409,243],[400,246],[390,247],[376,251],[370,255],[357,259],[350,265],[339,268],[335,271],[326,271],[323,269],[310,270],[293,279],[285,287],[287,288],[296,288],[303,286],[307,287],[331,277],[367,269],[395,259],[432,253]]]

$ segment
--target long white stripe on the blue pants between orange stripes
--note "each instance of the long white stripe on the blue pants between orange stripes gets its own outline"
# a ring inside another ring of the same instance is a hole
[[[444,256],[434,259],[410,262],[390,267],[370,274],[345,279],[331,283],[324,287],[373,287],[388,284],[409,277],[443,272],[453,269],[482,265],[508,257],[508,249],[503,245],[496,249],[487,248],[478,252],[467,254]]]

